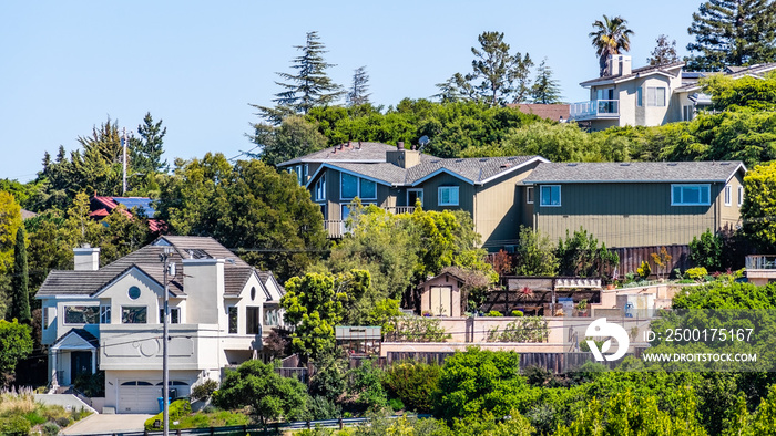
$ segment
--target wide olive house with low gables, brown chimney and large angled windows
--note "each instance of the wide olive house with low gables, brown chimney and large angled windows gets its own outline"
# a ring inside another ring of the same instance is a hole
[[[513,245],[515,229],[528,225],[515,190],[541,156],[439,158],[379,143],[347,143],[278,165],[297,175],[320,205],[329,237],[340,238],[358,197],[396,214],[426,210],[468,211],[483,247]]]

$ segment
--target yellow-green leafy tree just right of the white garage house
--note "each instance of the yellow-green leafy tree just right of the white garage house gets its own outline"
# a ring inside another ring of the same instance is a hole
[[[334,328],[345,316],[346,309],[364,295],[369,281],[369,272],[364,270],[337,277],[308,272],[288,280],[280,305],[286,310],[283,319],[295,325],[292,350],[313,359],[331,353]]]

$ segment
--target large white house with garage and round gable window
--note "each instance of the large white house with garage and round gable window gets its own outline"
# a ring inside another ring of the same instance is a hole
[[[105,372],[105,406],[155,413],[162,392],[164,263],[170,298],[170,388],[177,396],[224,366],[262,356],[280,324],[284,293],[212,238],[165,236],[103,268],[99,248],[78,248],[73,271],[51,271],[38,291],[52,385]]]

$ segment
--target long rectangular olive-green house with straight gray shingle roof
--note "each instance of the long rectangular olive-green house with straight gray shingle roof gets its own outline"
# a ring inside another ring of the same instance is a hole
[[[733,162],[542,163],[522,180],[532,227],[580,227],[606,247],[686,245],[741,224],[746,167]]]

